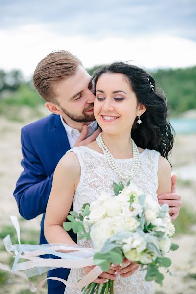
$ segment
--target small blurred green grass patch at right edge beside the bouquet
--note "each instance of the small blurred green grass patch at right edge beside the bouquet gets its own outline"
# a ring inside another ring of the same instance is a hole
[[[175,221],[176,235],[177,234],[191,234],[192,226],[196,224],[196,213],[188,206],[182,206],[180,214]]]

